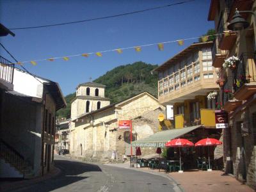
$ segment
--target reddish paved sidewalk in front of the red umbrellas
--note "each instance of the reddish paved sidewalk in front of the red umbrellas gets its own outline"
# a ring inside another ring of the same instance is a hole
[[[154,172],[161,175],[168,175],[171,177],[179,188],[184,192],[193,192],[193,191],[218,191],[218,192],[253,192],[252,188],[249,188],[245,184],[241,184],[238,180],[234,179],[230,175],[223,175],[221,171],[192,171],[192,172],[172,172],[165,173],[164,170],[150,170],[148,168],[130,168],[129,163],[122,164],[106,164],[109,166],[116,166],[120,168],[129,168],[137,171],[143,172]]]

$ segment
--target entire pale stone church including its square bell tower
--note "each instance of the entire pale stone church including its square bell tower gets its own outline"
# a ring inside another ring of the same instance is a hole
[[[148,92],[115,104],[104,97],[105,86],[82,83],[71,105],[70,155],[83,159],[122,158],[130,155],[130,130],[119,129],[120,120],[132,120],[132,140],[158,131],[157,115],[164,107]],[[134,149],[133,152],[134,154]]]

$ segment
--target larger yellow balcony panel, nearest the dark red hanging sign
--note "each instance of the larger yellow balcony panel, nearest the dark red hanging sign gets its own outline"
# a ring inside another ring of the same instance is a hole
[[[208,128],[216,128],[215,109],[200,109],[201,124]]]

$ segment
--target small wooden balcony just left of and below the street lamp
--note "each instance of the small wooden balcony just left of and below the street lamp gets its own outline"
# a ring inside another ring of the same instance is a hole
[[[236,42],[237,33],[234,31],[223,31],[221,35],[219,48],[221,50],[230,50]]]

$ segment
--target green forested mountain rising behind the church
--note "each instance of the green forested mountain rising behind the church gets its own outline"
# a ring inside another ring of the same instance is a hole
[[[105,97],[108,97],[111,103],[120,102],[144,91],[157,97],[157,75],[151,74],[151,71],[156,67],[157,65],[141,61],[121,65],[106,72],[93,82],[106,85]],[[70,118],[70,101],[74,97],[76,97],[76,93],[65,97],[67,108],[58,111],[58,118]]]

